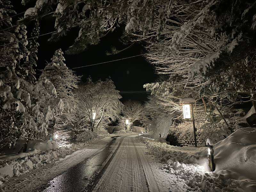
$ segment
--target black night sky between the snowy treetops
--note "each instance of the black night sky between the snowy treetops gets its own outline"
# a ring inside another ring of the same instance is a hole
[[[40,34],[54,31],[53,26],[54,22],[52,22],[50,18],[45,18],[43,22],[41,22]],[[106,55],[106,51],[110,50],[111,46],[115,46],[118,50],[125,48],[118,40],[122,36],[123,31],[123,28],[117,28],[116,31],[101,39],[100,44],[91,45],[87,50],[78,55],[64,54],[66,65],[69,68],[76,68],[144,53],[145,50],[143,50],[142,45],[137,43],[116,55]],[[47,41],[50,35],[39,37],[38,68],[43,69],[46,61],[50,62],[55,50],[61,48],[64,52],[68,46],[72,45],[74,37],[76,36],[73,35],[74,33],[78,33],[78,31],[70,31],[67,37],[63,37],[60,42],[57,43]],[[143,84],[153,82],[156,78],[153,66],[148,63],[143,56],[73,70],[76,72],[76,75],[83,76],[83,81],[85,81],[88,76],[92,76],[93,81],[98,79],[104,80],[110,76],[116,85],[116,89],[119,91],[146,91],[146,89],[143,88]],[[123,97],[122,101],[129,99],[145,101],[149,94],[132,93],[121,95]]]

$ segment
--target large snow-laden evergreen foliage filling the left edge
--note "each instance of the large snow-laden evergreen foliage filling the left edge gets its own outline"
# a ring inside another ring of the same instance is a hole
[[[30,140],[47,136],[52,113],[62,110],[62,100],[48,79],[35,83],[26,80],[29,79],[28,72],[32,71],[26,64],[29,62],[29,50],[32,51],[28,45],[26,25],[12,26],[8,14],[15,12],[10,10],[11,3],[1,3],[0,147],[3,148],[15,145],[18,138]]]

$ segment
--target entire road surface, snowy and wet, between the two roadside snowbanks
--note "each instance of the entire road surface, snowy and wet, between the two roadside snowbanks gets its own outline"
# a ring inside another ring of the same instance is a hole
[[[4,191],[186,191],[182,180],[159,165],[134,135],[105,138],[55,164],[13,178]]]

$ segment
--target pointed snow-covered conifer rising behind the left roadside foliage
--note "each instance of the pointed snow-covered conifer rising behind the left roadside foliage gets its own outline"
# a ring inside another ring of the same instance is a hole
[[[73,91],[78,88],[77,84],[80,78],[66,66],[64,61],[61,49],[56,50],[51,62],[45,66],[40,76],[40,78],[46,78],[52,82],[58,98],[63,101],[64,111],[53,117],[52,133],[59,129],[67,129],[70,124],[74,123],[71,119],[74,117],[72,113],[76,107],[76,97]]]

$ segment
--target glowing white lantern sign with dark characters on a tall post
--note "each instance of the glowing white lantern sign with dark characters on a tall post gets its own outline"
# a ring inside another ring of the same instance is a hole
[[[194,100],[192,98],[191,94],[190,94],[190,97],[180,98],[180,104],[183,105],[183,117],[184,117],[184,119],[191,119],[191,116],[192,116],[195,147],[197,147],[196,126],[195,126],[195,117],[194,117],[194,108],[193,108],[193,103],[195,103],[195,102],[196,102],[196,100]],[[191,107],[191,109],[190,109],[190,107]],[[190,111],[191,111],[191,113],[190,113]],[[191,121],[191,120],[187,120],[187,121]]]

